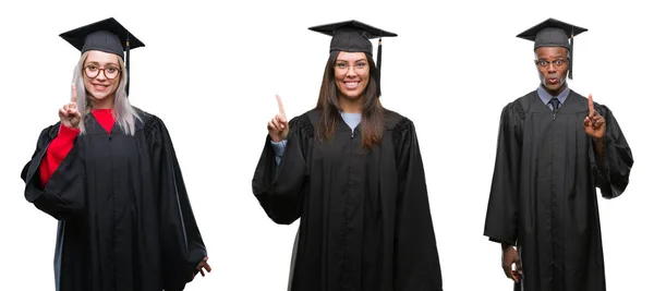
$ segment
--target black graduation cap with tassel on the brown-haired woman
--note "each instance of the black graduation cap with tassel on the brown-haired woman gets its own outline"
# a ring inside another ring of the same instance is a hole
[[[372,57],[373,44],[370,39],[379,38],[379,44],[377,45],[377,96],[382,96],[382,37],[395,37],[398,36],[397,34],[355,20],[313,26],[308,27],[308,29],[331,36],[329,52],[365,52]]]

